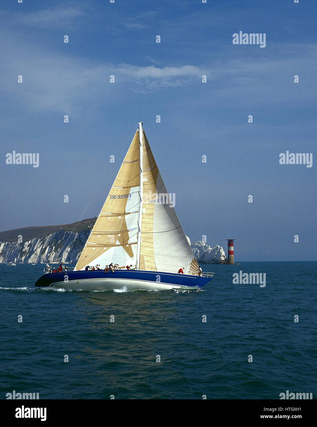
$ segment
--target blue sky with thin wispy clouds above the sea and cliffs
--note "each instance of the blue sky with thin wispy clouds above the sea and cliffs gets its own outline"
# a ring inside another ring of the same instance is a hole
[[[97,216],[143,120],[192,242],[317,260],[316,15],[313,0],[2,2],[0,230]],[[239,31],[266,46],[233,44]],[[13,151],[39,166],[7,164]],[[280,164],[286,151],[312,167]]]

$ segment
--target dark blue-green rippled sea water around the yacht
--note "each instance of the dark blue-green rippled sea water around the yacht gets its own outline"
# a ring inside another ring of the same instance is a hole
[[[0,264],[1,399],[317,396],[317,262],[202,265],[202,290],[161,292],[35,288],[43,267]],[[239,270],[266,286],[233,284]]]

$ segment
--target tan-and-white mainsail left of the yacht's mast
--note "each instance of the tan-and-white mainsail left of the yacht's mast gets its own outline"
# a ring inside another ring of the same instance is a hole
[[[137,240],[139,191],[140,142],[137,130],[75,270],[82,270],[91,263],[122,263],[126,259],[131,262]],[[105,254],[110,250],[112,255]],[[116,260],[111,261],[112,256]]]

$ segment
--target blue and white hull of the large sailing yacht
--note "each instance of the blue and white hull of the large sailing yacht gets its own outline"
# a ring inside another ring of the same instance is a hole
[[[83,290],[113,290],[122,287],[131,290],[199,289],[210,280],[210,277],[144,270],[116,270],[114,273],[96,270],[44,274],[35,286]]]

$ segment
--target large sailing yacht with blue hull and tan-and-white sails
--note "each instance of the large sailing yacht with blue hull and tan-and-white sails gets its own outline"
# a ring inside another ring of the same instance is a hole
[[[80,290],[201,288],[201,273],[143,130],[138,129],[73,272],[47,273],[39,287]],[[86,270],[110,264],[111,269]],[[130,269],[127,269],[127,266]],[[130,267],[131,266],[131,267]],[[184,274],[178,271],[183,269]]]

